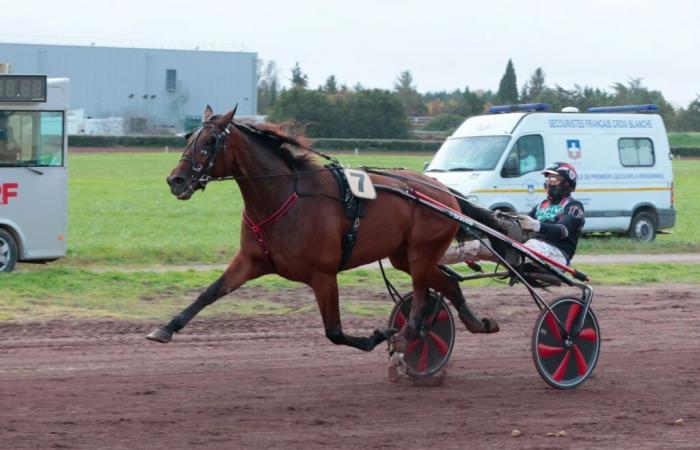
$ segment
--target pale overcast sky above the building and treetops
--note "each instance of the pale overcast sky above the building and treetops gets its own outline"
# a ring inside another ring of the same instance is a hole
[[[700,94],[699,19],[690,0],[15,0],[0,40],[238,49],[276,61],[284,84],[298,61],[311,87],[335,75],[391,89],[410,70],[420,92],[497,90],[512,58],[519,88],[537,67],[564,88],[642,78],[686,107]]]

